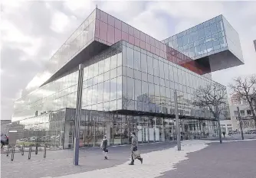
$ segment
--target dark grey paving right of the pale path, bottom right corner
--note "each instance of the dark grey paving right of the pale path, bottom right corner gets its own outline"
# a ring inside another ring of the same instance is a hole
[[[256,141],[212,143],[158,178],[256,178]]]

